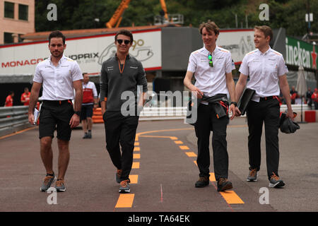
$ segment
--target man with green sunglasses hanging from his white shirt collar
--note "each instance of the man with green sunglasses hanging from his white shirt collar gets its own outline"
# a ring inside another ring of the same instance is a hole
[[[232,70],[235,69],[231,54],[228,50],[216,45],[219,29],[211,21],[201,23],[199,27],[204,47],[192,52],[184,85],[198,97],[197,120],[194,123],[196,137],[198,138],[198,157],[196,163],[199,167],[199,180],[196,187],[209,184],[210,151],[209,138],[213,131],[213,165],[214,174],[218,184],[218,191],[232,189],[228,181],[228,150],[226,141],[226,128],[228,125],[228,94],[235,100],[235,83]],[[192,84],[192,77],[196,83]],[[230,112],[234,113],[235,102],[230,105]],[[233,119],[234,114],[231,119]]]

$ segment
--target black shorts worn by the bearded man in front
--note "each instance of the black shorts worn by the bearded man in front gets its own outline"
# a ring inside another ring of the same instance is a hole
[[[69,141],[71,139],[71,126],[69,121],[74,114],[71,100],[44,100],[39,119],[39,138],[51,136],[57,128],[57,138]]]

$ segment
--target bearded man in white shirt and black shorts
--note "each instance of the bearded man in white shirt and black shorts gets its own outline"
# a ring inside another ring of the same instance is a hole
[[[52,138],[57,128],[57,144],[59,147],[59,174],[55,188],[65,191],[64,176],[69,165],[69,140],[71,129],[78,126],[81,115],[82,82],[81,69],[76,61],[64,56],[66,48],[65,36],[55,31],[49,35],[49,51],[51,56],[37,64],[30,95],[29,122],[34,123],[33,110],[43,87],[43,104],[40,111],[39,138],[40,154],[47,175],[40,191],[47,191],[54,182],[52,160]],[[75,89],[75,111],[72,101]]]

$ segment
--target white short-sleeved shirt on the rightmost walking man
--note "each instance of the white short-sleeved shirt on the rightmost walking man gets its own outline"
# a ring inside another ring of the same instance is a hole
[[[247,88],[256,91],[252,97],[256,102],[259,102],[259,97],[278,96],[278,76],[288,73],[283,55],[271,47],[264,53],[255,49],[246,54],[239,71],[249,76]]]

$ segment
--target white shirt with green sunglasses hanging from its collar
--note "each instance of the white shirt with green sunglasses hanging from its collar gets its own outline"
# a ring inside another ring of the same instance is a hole
[[[212,53],[213,67],[208,65],[209,54],[211,52],[208,52],[206,47],[192,52],[187,71],[194,73],[196,78],[194,86],[207,97],[213,97],[217,94],[228,95],[225,73],[230,73],[235,69],[230,51],[216,46]]]

